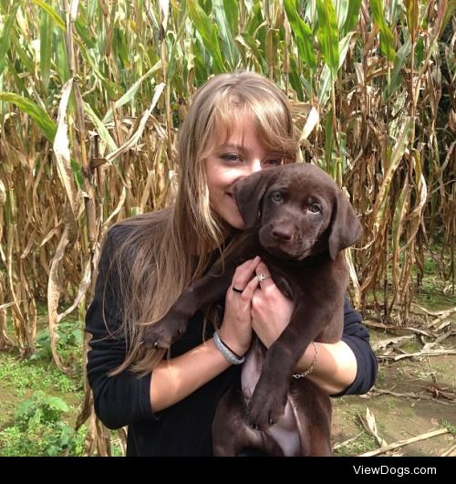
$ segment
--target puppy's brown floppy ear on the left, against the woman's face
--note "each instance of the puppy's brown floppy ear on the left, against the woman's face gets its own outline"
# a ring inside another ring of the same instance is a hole
[[[267,168],[246,176],[234,185],[234,198],[247,228],[255,225],[264,194],[276,174],[275,168]]]

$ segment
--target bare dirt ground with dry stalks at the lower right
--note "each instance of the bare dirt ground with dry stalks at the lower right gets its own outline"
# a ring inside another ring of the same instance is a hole
[[[373,331],[371,335],[372,341],[391,336]],[[456,337],[447,339],[442,347],[456,348]],[[419,398],[378,395],[375,389]],[[337,449],[337,455],[356,456],[379,447],[360,423],[359,416],[366,416],[367,407],[375,416],[378,435],[388,444],[444,426],[451,429],[452,434],[421,440],[386,455],[440,456],[456,444],[456,355],[382,363],[375,389],[369,395],[347,396],[333,402],[333,443],[358,436]]]

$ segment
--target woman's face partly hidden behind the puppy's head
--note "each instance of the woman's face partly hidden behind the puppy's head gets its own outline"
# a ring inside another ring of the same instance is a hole
[[[281,160],[267,153],[254,130],[254,122],[236,126],[228,140],[221,136],[204,161],[212,210],[224,222],[243,229],[244,220],[233,197],[233,185],[249,174],[281,164]]]

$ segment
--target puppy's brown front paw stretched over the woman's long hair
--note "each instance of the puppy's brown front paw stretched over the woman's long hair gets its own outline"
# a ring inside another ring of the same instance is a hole
[[[170,311],[163,319],[151,324],[144,331],[143,342],[146,348],[170,348],[187,331],[188,320]]]

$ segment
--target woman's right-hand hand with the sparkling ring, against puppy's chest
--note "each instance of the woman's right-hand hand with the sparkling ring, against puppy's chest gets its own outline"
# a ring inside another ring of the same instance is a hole
[[[295,306],[275,286],[271,273],[263,262],[256,266],[256,274],[263,274],[267,279],[254,291],[252,327],[264,346],[269,348],[290,322]]]

